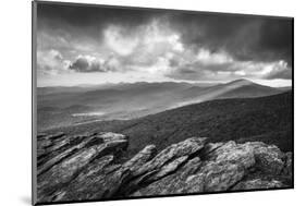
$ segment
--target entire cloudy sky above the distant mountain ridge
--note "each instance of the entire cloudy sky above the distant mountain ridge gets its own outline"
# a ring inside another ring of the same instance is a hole
[[[37,84],[292,82],[292,20],[38,3]]]

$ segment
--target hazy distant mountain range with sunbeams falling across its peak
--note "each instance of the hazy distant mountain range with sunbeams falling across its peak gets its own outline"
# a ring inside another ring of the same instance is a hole
[[[212,99],[262,97],[289,89],[264,86],[247,80],[215,85],[139,82],[39,87],[38,129],[95,120],[130,120]]]

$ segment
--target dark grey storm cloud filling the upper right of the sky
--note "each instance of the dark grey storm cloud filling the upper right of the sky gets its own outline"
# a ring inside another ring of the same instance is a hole
[[[224,50],[242,61],[283,59],[292,64],[290,19],[196,13],[178,14],[171,21],[184,44],[195,49]]]

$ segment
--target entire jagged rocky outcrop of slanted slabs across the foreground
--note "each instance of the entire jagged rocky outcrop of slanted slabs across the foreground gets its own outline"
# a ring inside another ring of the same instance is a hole
[[[38,135],[38,201],[64,202],[292,187],[292,154],[261,142],[191,137],[126,160],[117,133]]]

